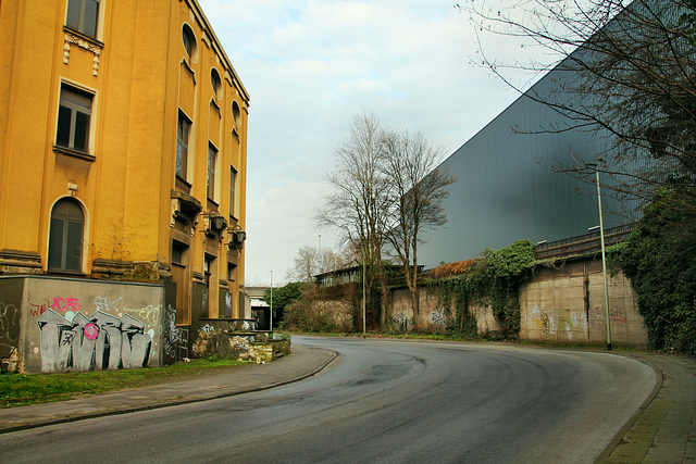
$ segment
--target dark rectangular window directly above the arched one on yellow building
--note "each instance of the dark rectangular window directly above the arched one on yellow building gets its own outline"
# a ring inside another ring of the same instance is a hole
[[[91,100],[90,93],[65,85],[61,88],[58,134],[55,135],[57,146],[83,153],[88,152]]]

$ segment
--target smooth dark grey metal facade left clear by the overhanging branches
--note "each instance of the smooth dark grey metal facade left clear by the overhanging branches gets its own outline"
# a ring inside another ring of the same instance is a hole
[[[564,239],[599,224],[596,188],[554,167],[595,160],[608,149],[607,138],[580,129],[550,131],[572,123],[527,97],[549,95],[569,77],[549,72],[440,164],[438,170],[456,178],[445,200],[448,223],[424,234],[420,264],[468,260],[519,239]],[[629,221],[612,214],[622,210],[616,200],[604,197],[602,206],[606,227]]]

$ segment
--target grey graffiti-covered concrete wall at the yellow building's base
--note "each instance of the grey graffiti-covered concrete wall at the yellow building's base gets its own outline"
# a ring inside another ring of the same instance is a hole
[[[0,277],[0,358],[26,373],[162,365],[179,337],[162,285]]]

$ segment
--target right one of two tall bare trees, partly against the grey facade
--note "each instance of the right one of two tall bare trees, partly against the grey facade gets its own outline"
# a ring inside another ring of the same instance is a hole
[[[383,175],[390,186],[390,227],[386,237],[403,266],[415,324],[420,323],[418,246],[423,233],[447,222],[443,201],[453,178],[435,170],[445,155],[422,133],[383,135]]]

